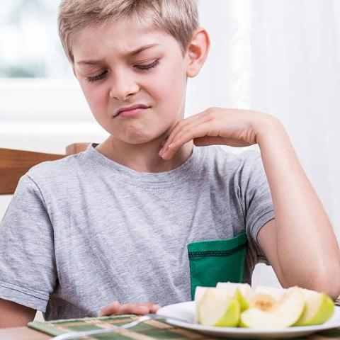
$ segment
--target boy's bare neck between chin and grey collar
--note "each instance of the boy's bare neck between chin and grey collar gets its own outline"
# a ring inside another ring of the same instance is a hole
[[[172,159],[159,157],[161,142],[155,141],[148,145],[130,145],[113,140],[110,136],[96,147],[96,150],[108,159],[138,172],[164,172],[181,166],[191,156],[193,142],[188,142]]]

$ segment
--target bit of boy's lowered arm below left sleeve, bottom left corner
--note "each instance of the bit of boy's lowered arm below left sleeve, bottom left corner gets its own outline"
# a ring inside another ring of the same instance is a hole
[[[23,327],[33,321],[36,310],[0,299],[0,328]]]

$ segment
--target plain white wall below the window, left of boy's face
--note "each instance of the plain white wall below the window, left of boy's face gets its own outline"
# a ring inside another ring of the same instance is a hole
[[[101,142],[74,79],[0,79],[0,146],[65,153],[74,142]]]

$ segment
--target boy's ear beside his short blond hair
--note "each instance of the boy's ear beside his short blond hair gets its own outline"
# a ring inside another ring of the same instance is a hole
[[[200,27],[193,34],[191,42],[186,51],[188,57],[188,67],[186,70],[187,77],[196,77],[200,68],[203,67],[205,59],[208,57],[210,48],[210,39],[205,28]]]

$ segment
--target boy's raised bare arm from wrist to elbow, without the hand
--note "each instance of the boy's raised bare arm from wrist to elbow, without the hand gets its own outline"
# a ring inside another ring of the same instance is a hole
[[[331,223],[307,179],[283,125],[271,119],[256,140],[271,188],[275,220],[258,242],[281,285],[340,294],[340,254]]]

